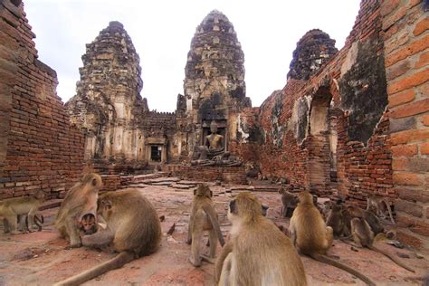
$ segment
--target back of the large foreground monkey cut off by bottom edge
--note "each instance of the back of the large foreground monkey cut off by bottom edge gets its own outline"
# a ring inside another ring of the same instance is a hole
[[[256,226],[256,227],[254,227]],[[277,226],[262,218],[233,237],[237,285],[306,285],[300,256]]]

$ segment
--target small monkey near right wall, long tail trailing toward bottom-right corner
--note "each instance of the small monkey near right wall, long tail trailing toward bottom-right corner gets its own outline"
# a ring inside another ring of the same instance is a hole
[[[353,241],[358,245],[358,247],[367,247],[372,251],[381,253],[392,262],[395,262],[397,265],[405,268],[407,271],[415,272],[414,269],[410,268],[405,263],[400,262],[395,256],[391,255],[390,253],[386,253],[385,251],[373,245],[375,235],[365,218],[354,217],[351,219],[351,234],[353,235]]]

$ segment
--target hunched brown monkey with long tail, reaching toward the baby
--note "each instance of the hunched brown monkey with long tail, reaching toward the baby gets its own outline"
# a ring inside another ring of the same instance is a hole
[[[80,285],[139,257],[155,253],[161,244],[161,223],[157,211],[138,189],[100,195],[97,215],[106,222],[106,229],[82,236],[82,245],[90,247],[108,245],[119,254],[91,270],[60,281],[56,285]]]

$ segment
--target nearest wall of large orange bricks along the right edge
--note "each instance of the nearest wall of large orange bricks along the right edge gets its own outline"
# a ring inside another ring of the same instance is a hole
[[[422,1],[385,1],[387,94],[398,236],[429,249],[429,20]]]

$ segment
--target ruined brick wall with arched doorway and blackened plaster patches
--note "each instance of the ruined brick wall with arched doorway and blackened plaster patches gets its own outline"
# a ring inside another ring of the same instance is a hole
[[[290,79],[262,103],[262,175],[360,205],[368,194],[396,198],[382,36],[380,2],[362,1],[343,49],[309,81]]]

